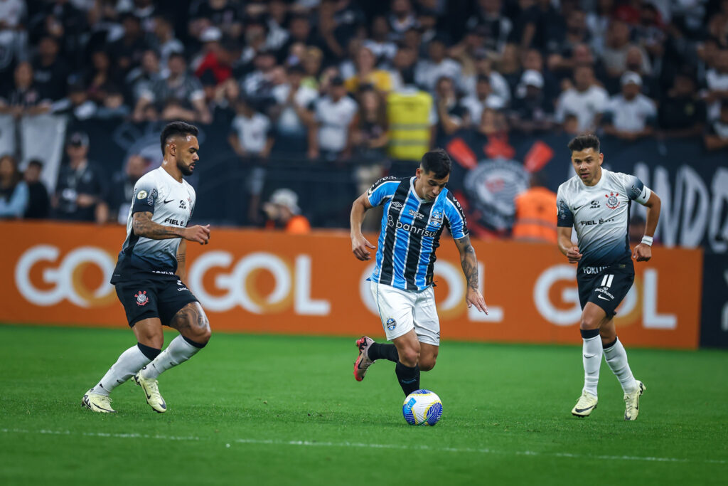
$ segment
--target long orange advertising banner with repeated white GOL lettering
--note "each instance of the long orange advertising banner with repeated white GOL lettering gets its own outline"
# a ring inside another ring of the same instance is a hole
[[[108,283],[124,227],[0,222],[0,232],[1,322],[126,326]],[[465,305],[459,255],[448,239],[435,263],[443,340],[581,342],[576,267],[557,248],[474,241],[490,310],[484,315]],[[366,281],[373,261],[352,255],[346,232],[213,228],[209,245],[187,248],[186,284],[213,329],[384,335]],[[636,263],[635,284],[617,310],[620,338],[632,346],[697,348],[702,265],[700,250],[659,247],[652,261]]]

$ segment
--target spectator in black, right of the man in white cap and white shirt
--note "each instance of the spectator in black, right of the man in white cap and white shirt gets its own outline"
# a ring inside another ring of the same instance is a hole
[[[692,137],[703,133],[705,103],[697,95],[695,80],[685,72],[676,74],[673,87],[660,100],[657,119],[669,137]]]

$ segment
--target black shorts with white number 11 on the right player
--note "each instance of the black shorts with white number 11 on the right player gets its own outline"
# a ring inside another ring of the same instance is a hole
[[[579,303],[583,309],[587,302],[594,302],[604,309],[608,317],[614,317],[614,309],[620,305],[634,281],[632,262],[609,267],[580,267],[577,271]]]

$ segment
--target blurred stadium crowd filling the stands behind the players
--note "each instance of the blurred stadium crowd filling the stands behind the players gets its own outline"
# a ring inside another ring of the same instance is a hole
[[[379,162],[357,167],[361,189],[461,130],[723,149],[728,0],[0,0],[0,114],[47,113],[223,120],[251,224],[272,213],[270,157]],[[104,181],[88,145],[68,136],[51,195],[43,161],[21,175],[3,154],[0,216],[116,221],[149,167]]]

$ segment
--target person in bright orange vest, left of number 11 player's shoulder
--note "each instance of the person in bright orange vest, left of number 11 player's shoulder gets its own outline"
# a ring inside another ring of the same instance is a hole
[[[544,173],[531,174],[530,186],[513,200],[513,238],[520,241],[556,243],[556,193],[548,189]]]

